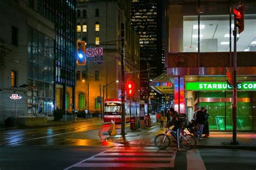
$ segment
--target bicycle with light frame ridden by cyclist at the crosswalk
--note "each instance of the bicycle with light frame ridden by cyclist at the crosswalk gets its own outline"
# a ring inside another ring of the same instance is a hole
[[[183,131],[183,130],[181,130]],[[168,133],[171,134],[172,138],[177,142],[176,131],[171,129],[167,129],[165,133],[158,134],[156,138],[154,138],[154,144],[160,149],[164,150],[165,148],[169,147],[171,144],[171,139],[167,135]],[[167,139],[167,140],[166,140]],[[197,140],[192,134],[185,134],[180,133],[180,146],[183,147],[185,150],[191,150],[197,145]]]

